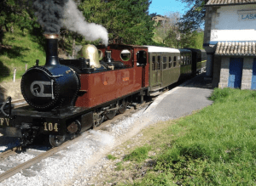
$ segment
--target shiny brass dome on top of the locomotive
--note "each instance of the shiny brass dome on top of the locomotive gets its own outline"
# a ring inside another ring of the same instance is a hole
[[[84,45],[80,50],[80,56],[85,59],[90,59],[90,68],[100,68],[98,49],[92,44]]]

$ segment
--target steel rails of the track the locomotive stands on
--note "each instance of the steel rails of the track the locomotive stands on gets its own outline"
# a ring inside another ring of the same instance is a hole
[[[149,101],[143,102],[143,104],[137,104],[137,106],[136,106],[137,110],[141,110],[141,109],[147,107],[152,102],[153,102],[152,100],[149,100]],[[95,127],[94,130],[96,130],[96,131],[104,130],[104,128],[107,127],[109,124],[111,124],[115,121],[122,120],[122,118],[124,116],[130,116],[131,114],[133,114],[135,112],[136,112],[135,107],[131,107],[129,110],[126,110],[124,114],[119,114],[119,115],[115,116],[113,118],[113,120],[104,121],[100,126]],[[89,135],[89,134],[90,134],[90,132],[87,132],[87,135]],[[67,148],[68,146],[79,141],[81,138],[84,138],[84,136],[79,135],[77,138],[68,140],[67,142],[65,142],[64,144],[62,144],[59,147],[49,149],[46,152],[43,152],[40,155],[37,155],[36,157],[32,158],[31,160],[21,163],[20,165],[13,167],[6,172],[3,172],[2,174],[0,174],[0,183],[3,182],[3,180],[5,180],[5,179],[8,179],[8,178],[14,176],[16,173],[22,171],[23,169],[29,168],[33,164],[36,164],[36,163],[44,160],[45,158],[47,158],[51,155],[54,155],[55,153],[59,152],[61,149]],[[0,154],[0,160],[6,159],[11,155],[17,154],[17,152],[19,152],[19,150],[20,150],[20,147],[15,147],[13,149],[4,151],[3,153]]]

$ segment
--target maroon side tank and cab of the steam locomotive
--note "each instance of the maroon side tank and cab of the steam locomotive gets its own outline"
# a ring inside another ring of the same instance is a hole
[[[121,52],[124,49],[131,53],[131,58],[127,61],[121,58]],[[78,97],[75,106],[91,108],[147,90],[148,59],[145,65],[137,65],[137,52],[143,50],[147,53],[148,48],[109,45],[108,48],[100,48],[100,50],[104,54],[103,59],[107,58],[105,55],[109,52],[112,54],[113,63],[122,62],[125,67],[98,73],[79,74],[80,92],[84,94]]]

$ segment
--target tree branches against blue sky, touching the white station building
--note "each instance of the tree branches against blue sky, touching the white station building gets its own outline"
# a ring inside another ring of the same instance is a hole
[[[195,31],[204,24],[206,14],[204,0],[179,0],[182,3],[187,3],[189,11],[183,15],[178,25],[181,31]]]

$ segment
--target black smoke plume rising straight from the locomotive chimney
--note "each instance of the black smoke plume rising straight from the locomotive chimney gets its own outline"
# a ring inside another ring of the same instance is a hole
[[[35,0],[33,7],[38,23],[43,27],[44,33],[58,34],[61,29],[64,6],[68,0]]]

